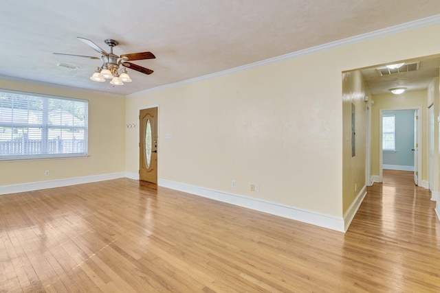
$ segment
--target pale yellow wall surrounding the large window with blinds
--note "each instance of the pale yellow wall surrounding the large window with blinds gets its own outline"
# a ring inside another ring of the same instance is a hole
[[[1,89],[89,100],[89,157],[0,162],[0,185],[124,172],[125,99],[0,80]],[[45,170],[50,176],[44,176]]]

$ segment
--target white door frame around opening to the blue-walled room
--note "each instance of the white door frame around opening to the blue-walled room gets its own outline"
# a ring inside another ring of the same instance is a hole
[[[385,111],[398,111],[398,110],[417,110],[417,115],[419,116],[419,123],[417,124],[417,143],[419,143],[419,151],[417,152],[417,166],[414,166],[415,168],[417,168],[417,178],[418,178],[418,186],[423,187],[423,183],[421,180],[422,178],[422,173],[423,173],[423,169],[422,169],[422,165],[421,165],[421,160],[422,160],[422,153],[423,153],[423,144],[422,144],[422,130],[423,130],[423,111],[422,111],[423,107],[422,106],[414,106],[414,107],[400,107],[400,108],[381,108],[379,109],[379,176],[380,176],[380,181],[382,182],[383,180],[383,150],[382,150],[382,117],[383,117],[383,113]]]

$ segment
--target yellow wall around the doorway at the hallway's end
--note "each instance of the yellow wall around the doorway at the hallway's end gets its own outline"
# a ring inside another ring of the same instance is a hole
[[[401,95],[389,93],[373,95],[374,104],[371,108],[371,175],[380,176],[380,109],[391,110],[401,108],[422,108],[422,174],[421,180],[428,180],[428,112],[427,91],[408,91]]]

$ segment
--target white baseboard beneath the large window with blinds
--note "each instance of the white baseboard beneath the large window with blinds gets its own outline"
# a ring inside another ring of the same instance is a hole
[[[48,189],[55,187],[64,187],[69,185],[77,185],[84,183],[92,183],[104,180],[113,180],[118,178],[124,178],[125,172],[110,173],[110,174],[99,174],[92,176],[76,177],[76,178],[65,178],[57,180],[47,180],[39,182],[21,183],[14,185],[1,185],[0,195],[3,194],[16,194],[17,192],[33,191],[39,189]]]

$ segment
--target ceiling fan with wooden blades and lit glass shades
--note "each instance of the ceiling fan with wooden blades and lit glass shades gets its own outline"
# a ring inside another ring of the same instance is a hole
[[[101,54],[102,59],[102,65],[101,67],[98,67],[97,71],[91,75],[91,80],[95,82],[104,82],[106,79],[112,79],[111,84],[113,85],[122,85],[124,82],[131,82],[131,79],[126,72],[126,69],[122,72],[120,71],[120,65],[123,67],[133,69],[135,71],[139,71],[141,73],[145,74],[151,74],[153,73],[153,70],[135,65],[134,63],[131,63],[129,61],[133,60],[144,60],[144,59],[154,59],[156,58],[153,53],[151,52],[140,52],[140,53],[132,53],[132,54],[122,54],[121,56],[113,54],[113,47],[119,45],[119,42],[117,40],[113,40],[111,38],[107,38],[104,40],[104,43],[109,45],[110,47],[110,53],[107,53],[103,49],[101,49],[98,45],[96,45],[91,40],[88,40],[87,38],[81,38],[78,36],[78,39],[82,40],[86,45],[91,47],[91,49],[94,49],[98,53]],[[84,56],[84,55],[75,55],[75,54],[63,54],[63,53],[54,53],[56,55],[67,55],[67,56],[76,56],[76,57],[83,57],[83,58],[89,58],[89,59],[99,59],[98,57],[94,56]]]

